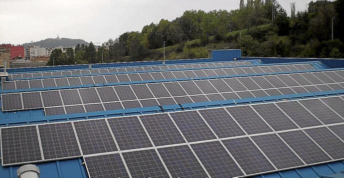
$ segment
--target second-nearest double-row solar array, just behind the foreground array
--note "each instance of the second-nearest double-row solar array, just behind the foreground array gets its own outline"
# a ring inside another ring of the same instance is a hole
[[[317,83],[321,82],[321,84],[315,85],[311,82],[307,83],[307,85],[304,84],[303,81],[308,81],[309,76],[313,78],[319,73],[323,76],[336,75],[337,78],[330,80],[330,77],[322,77],[322,80],[317,80]],[[46,115],[71,114],[339,90],[344,89],[343,77],[343,71],[339,70],[274,76],[132,84],[115,87],[2,94],[1,101],[2,111],[44,108]],[[265,83],[262,81],[265,81]],[[268,83],[270,85],[267,85]],[[254,89],[252,89],[253,86]],[[24,98],[26,98],[25,102],[22,102]],[[312,121],[309,122],[312,124]]]

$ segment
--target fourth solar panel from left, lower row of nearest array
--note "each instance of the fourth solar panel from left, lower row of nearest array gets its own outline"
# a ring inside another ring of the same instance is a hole
[[[238,177],[244,174],[219,142],[191,145],[211,177]]]

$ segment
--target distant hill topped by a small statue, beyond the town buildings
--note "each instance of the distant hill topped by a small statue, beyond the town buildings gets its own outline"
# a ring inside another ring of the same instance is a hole
[[[57,47],[57,46],[76,46],[77,44],[89,45],[88,42],[82,39],[70,38],[47,38],[44,40],[22,44],[24,47],[35,45],[40,47]]]

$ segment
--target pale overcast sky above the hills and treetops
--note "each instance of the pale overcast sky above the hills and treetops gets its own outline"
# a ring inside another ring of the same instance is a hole
[[[79,38],[100,44],[185,10],[237,9],[240,0],[0,0],[0,43]],[[246,1],[246,0],[245,0]],[[290,14],[290,2],[278,0]],[[305,10],[310,0],[298,0]]]

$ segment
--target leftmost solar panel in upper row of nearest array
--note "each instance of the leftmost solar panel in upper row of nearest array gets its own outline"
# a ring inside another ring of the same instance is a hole
[[[1,128],[2,165],[42,160],[36,126]]]

